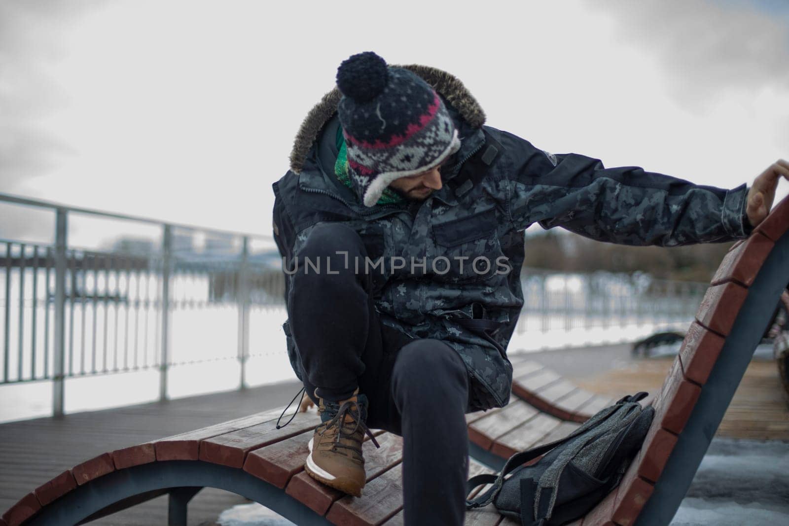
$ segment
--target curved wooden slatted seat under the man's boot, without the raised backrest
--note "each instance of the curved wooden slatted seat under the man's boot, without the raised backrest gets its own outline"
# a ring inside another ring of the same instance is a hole
[[[186,506],[202,487],[219,487],[297,524],[402,524],[402,438],[374,431],[365,441],[368,483],[362,498],[332,490],[303,471],[316,412],[297,413],[277,430],[281,409],[104,453],[36,488],[3,516],[5,524],[77,524],[170,494],[170,524],[186,524]],[[499,468],[518,447],[559,438],[577,427],[522,401],[467,415],[470,446]],[[507,431],[515,431],[516,433]],[[528,438],[531,437],[531,438]],[[493,453],[489,453],[492,451]],[[478,458],[475,451],[472,457]],[[503,457],[498,457],[501,455]],[[490,471],[471,461],[469,473]],[[467,524],[498,524],[495,509],[467,514]],[[27,522],[25,522],[27,521]]]

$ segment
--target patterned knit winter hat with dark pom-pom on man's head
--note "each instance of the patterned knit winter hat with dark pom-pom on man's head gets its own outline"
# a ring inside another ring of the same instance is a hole
[[[372,51],[340,64],[337,87],[350,178],[367,207],[391,181],[431,170],[460,148],[458,130],[436,91]]]

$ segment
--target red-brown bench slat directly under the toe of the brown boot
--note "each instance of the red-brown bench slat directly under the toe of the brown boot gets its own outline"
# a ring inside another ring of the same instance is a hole
[[[366,440],[362,445],[362,451],[365,454],[365,474],[367,475],[368,484],[394,464],[399,464],[402,459],[401,437],[385,433],[376,437],[376,440],[379,442],[380,448],[376,448],[370,440]],[[285,491],[310,509],[320,513],[320,515],[326,513],[331,503],[343,495],[324,484],[313,484],[306,479],[314,480],[306,472],[294,475],[286,486]],[[365,486],[365,489],[362,490],[362,498],[370,498],[372,496],[370,491],[372,490],[368,490],[368,486]]]

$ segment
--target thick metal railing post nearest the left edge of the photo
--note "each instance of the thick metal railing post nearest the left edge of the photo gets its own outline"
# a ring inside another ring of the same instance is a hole
[[[54,375],[52,376],[52,416],[62,417],[65,394],[65,248],[68,244],[68,217],[64,208],[55,215],[54,237]],[[47,308],[49,308],[47,306]]]

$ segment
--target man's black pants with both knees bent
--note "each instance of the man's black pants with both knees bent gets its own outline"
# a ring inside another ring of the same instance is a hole
[[[358,386],[369,400],[368,426],[403,437],[406,524],[462,524],[469,386],[460,356],[443,341],[412,340],[380,322],[365,246],[350,227],[316,226],[299,256],[288,315],[307,393],[339,401]]]

